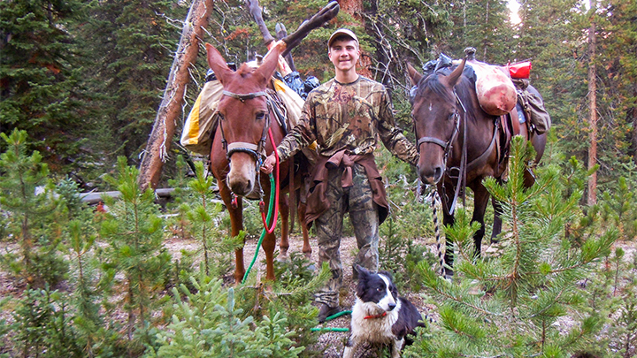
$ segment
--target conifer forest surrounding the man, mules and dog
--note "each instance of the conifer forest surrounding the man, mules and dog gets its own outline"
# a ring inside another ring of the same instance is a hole
[[[180,145],[206,82],[204,44],[237,65],[267,52],[248,3],[0,0],[0,358],[342,356],[349,316],[319,324],[313,304],[330,276],[317,265],[314,232],[308,259],[294,225],[276,280],[266,280],[258,203],[243,202],[244,229],[233,237],[209,156]],[[488,205],[480,256],[472,191],[455,224],[437,227],[432,187],[376,150],[390,205],[380,269],[426,315],[402,356],[637,356],[637,2],[338,3],[338,15],[291,51],[296,71],[333,78],[327,39],[353,30],[358,72],[388,89],[414,144],[408,64],[422,72],[467,47],[488,64],[530,61],[552,121],[533,187],[522,179],[533,148],[519,138],[507,179],[484,181],[502,203],[503,229],[490,242]],[[272,34],[277,24],[293,32],[327,4],[259,1]],[[184,65],[187,28],[198,51]],[[152,132],[167,127],[158,113],[179,65],[174,133],[164,129],[173,138],[159,146]],[[144,161],[157,147],[163,166],[149,186]],[[350,263],[356,239],[345,223]],[[439,234],[455,253],[452,280],[440,275]],[[246,263],[260,254],[235,282],[234,251],[244,245]],[[349,308],[356,283],[348,264],[344,272]],[[357,353],[388,356],[374,345]]]

